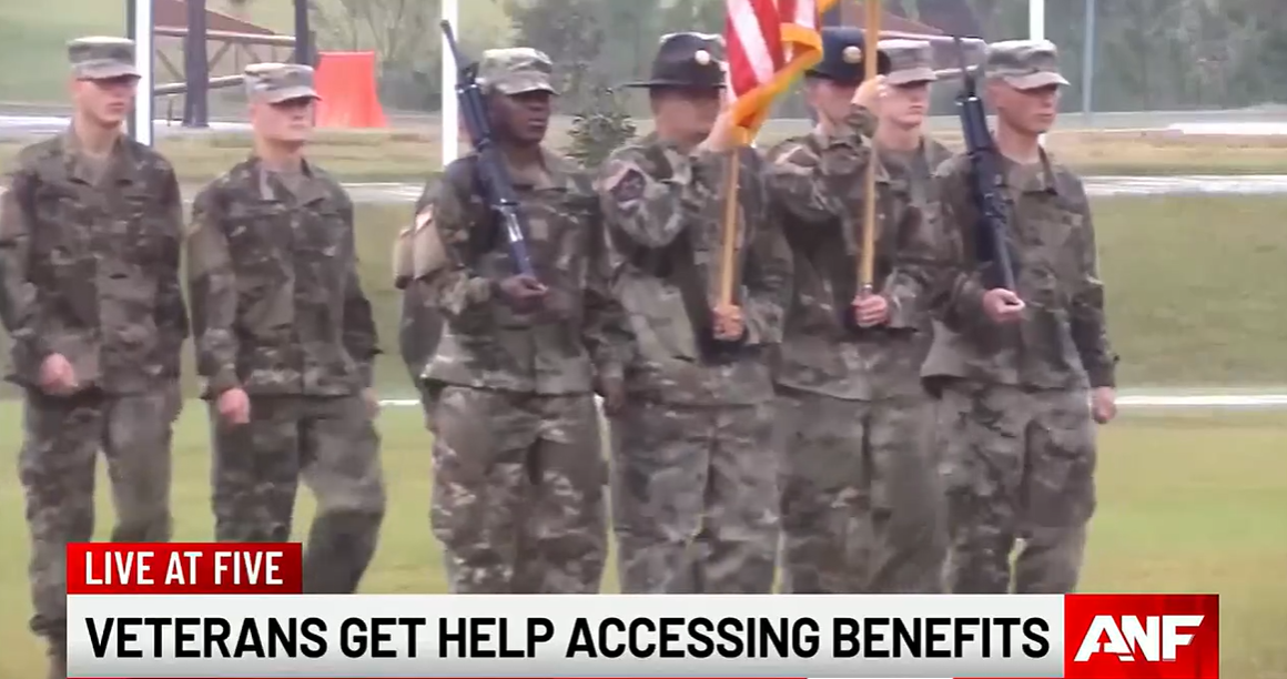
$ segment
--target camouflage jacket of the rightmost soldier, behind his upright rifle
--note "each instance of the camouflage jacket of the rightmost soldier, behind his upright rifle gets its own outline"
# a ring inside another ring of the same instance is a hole
[[[1010,201],[1009,244],[1023,320],[996,325],[974,252],[978,211],[970,166],[958,156],[938,170],[943,226],[960,269],[936,301],[942,332],[925,377],[964,377],[1037,388],[1113,386],[1117,358],[1104,323],[1090,202],[1081,180],[1042,152],[1041,163],[1003,159]]]

